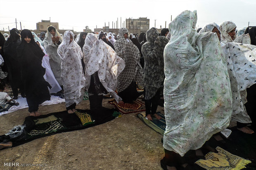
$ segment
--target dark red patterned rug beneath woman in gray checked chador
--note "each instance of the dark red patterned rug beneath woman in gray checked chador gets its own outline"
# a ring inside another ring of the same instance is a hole
[[[110,104],[115,105],[115,107],[122,113],[122,114],[129,114],[129,113],[136,113],[136,112],[143,112],[146,110],[146,106],[144,103],[136,100],[133,103],[117,103],[115,99],[109,100]]]

